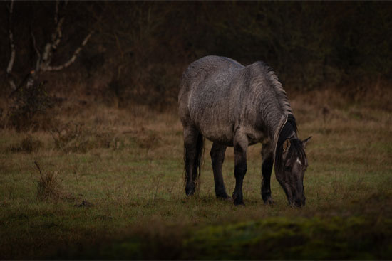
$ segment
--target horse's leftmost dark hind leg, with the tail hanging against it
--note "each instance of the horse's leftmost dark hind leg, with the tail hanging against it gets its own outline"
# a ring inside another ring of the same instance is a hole
[[[184,160],[185,160],[185,193],[195,193],[197,168],[201,162],[202,135],[192,127],[184,128]]]

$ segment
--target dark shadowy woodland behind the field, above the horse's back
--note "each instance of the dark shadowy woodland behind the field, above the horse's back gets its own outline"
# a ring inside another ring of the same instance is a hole
[[[51,38],[55,3],[14,3],[17,83],[35,65],[31,33],[41,51]],[[10,91],[8,5],[1,3],[0,16],[3,94]],[[120,107],[175,105],[182,71],[205,55],[245,65],[264,60],[286,89],[301,92],[354,95],[392,80],[390,2],[70,1],[61,14],[66,20],[53,65],[68,60],[89,31],[93,36],[73,65],[39,79],[52,91],[117,99]]]

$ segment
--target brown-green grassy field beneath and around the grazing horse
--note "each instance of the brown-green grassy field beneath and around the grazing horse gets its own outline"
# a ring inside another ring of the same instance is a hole
[[[1,129],[0,258],[390,260],[392,114],[312,95],[292,97],[299,136],[313,136],[301,209],[274,174],[275,205],[263,205],[261,145],[249,149],[245,206],[215,198],[211,142],[186,198],[175,110],[91,103],[64,108],[51,131]],[[228,193],[233,169],[227,149]]]

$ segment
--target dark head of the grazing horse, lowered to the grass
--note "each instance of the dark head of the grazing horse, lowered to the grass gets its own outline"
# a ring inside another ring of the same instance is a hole
[[[305,147],[311,137],[286,139],[275,159],[275,174],[291,206],[305,206],[304,174],[308,161]]]

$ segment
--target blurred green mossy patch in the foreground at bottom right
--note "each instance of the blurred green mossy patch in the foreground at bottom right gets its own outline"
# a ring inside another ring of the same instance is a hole
[[[391,220],[383,222],[388,227]],[[382,231],[361,217],[267,218],[204,228],[192,233],[184,247],[202,260],[376,259],[388,257],[381,250],[391,245],[378,239]]]

